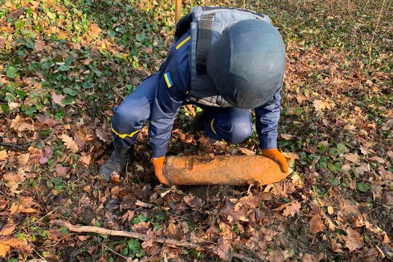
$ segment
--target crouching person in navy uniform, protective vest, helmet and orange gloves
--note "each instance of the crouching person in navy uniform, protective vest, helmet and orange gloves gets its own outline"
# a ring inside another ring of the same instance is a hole
[[[179,21],[175,43],[160,71],[114,108],[115,149],[99,171],[105,179],[124,171],[133,158],[138,131],[149,119],[155,173],[167,184],[162,166],[173,121],[186,103],[203,109],[194,121],[197,130],[204,129],[210,138],[233,144],[252,135],[250,109],[255,109],[262,154],[278,161],[287,172],[285,158],[277,150],[285,62],[280,33],[270,19],[251,11],[193,10]]]

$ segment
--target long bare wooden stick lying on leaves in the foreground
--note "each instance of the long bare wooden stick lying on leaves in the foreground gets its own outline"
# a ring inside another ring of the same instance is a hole
[[[64,226],[69,231],[79,232],[79,233],[98,233],[98,234],[105,234],[105,235],[126,236],[126,237],[131,237],[131,238],[137,238],[137,239],[140,239],[143,241],[145,241],[146,237],[147,237],[145,234],[141,234],[141,233],[137,233],[137,232],[128,232],[128,231],[122,231],[122,230],[110,230],[110,229],[104,229],[104,228],[98,228],[98,227],[92,227],[92,226],[75,226],[67,221],[62,221],[62,220],[52,220],[51,224],[57,225],[57,226]],[[186,248],[192,248],[192,249],[201,248],[204,250],[207,249],[203,245],[185,242],[185,241],[178,241],[175,239],[169,239],[169,238],[165,238],[165,237],[157,237],[154,239],[154,241],[158,242],[158,243],[166,244],[168,246],[178,246],[178,247],[186,247]],[[234,258],[237,258],[239,260],[243,260],[243,261],[250,261],[250,262],[255,261],[252,258],[243,256],[243,255],[237,254],[237,253],[233,253],[233,254],[231,254],[231,256]]]

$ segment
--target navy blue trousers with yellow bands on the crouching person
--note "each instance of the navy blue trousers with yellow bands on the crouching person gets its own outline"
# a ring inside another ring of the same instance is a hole
[[[138,131],[149,119],[159,74],[145,79],[119,106],[113,109],[112,133],[116,146],[127,148],[135,144]],[[251,114],[248,109],[203,106],[207,113],[206,134],[216,140],[238,144],[252,135]]]

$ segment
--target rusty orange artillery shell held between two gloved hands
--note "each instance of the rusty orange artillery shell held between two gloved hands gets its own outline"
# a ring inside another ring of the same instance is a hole
[[[163,175],[170,185],[266,185],[288,174],[280,165],[263,156],[223,155],[167,156]]]

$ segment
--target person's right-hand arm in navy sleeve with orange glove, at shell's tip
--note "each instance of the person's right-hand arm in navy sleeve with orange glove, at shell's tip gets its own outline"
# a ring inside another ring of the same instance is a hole
[[[256,132],[259,138],[259,146],[262,155],[278,162],[281,170],[288,173],[288,164],[285,157],[277,149],[277,128],[280,119],[281,88],[279,88],[273,98],[265,105],[255,109]]]

